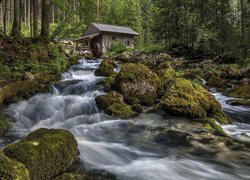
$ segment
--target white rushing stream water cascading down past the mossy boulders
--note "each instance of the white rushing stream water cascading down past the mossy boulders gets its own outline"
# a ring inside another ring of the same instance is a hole
[[[1,144],[20,139],[41,127],[63,128],[75,135],[82,166],[108,171],[117,179],[250,178],[247,167],[222,166],[209,159],[177,153],[175,148],[152,141],[150,129],[174,128],[176,122],[182,121],[179,117],[141,114],[121,120],[100,111],[95,97],[104,92],[96,84],[104,78],[94,76],[99,63],[99,60],[81,60],[62,74],[62,81],[53,87],[53,93],[37,94],[9,106],[6,113],[13,117],[14,124],[8,140],[2,140]],[[222,95],[217,95],[220,97]],[[242,111],[239,109],[238,113]],[[230,128],[225,127],[228,131]]]

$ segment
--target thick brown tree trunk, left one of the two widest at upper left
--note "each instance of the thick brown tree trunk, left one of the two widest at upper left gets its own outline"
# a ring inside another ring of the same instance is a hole
[[[12,36],[19,36],[21,29],[20,22],[20,0],[14,0],[14,20],[12,26]]]

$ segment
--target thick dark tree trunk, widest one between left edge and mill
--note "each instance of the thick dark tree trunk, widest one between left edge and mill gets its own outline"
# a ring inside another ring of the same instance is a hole
[[[51,20],[51,0],[43,0],[43,9],[42,9],[42,30],[41,37],[49,42],[49,25]]]

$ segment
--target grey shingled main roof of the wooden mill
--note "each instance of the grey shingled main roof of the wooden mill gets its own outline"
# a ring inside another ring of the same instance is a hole
[[[99,31],[101,32],[113,32],[113,33],[122,33],[122,34],[131,34],[131,35],[139,35],[133,29],[125,26],[115,26],[109,24],[99,24],[99,23],[92,23]]]

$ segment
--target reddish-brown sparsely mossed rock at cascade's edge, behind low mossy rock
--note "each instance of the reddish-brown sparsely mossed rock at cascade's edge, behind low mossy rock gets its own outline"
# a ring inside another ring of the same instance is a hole
[[[125,103],[122,94],[112,91],[108,94],[101,95],[95,98],[96,104],[100,109],[105,110],[114,103]]]

